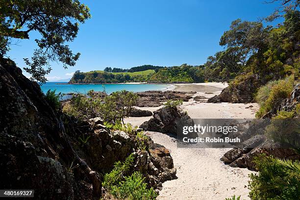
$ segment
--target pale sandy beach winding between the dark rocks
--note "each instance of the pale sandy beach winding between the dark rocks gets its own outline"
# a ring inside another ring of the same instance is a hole
[[[194,96],[210,98],[221,93],[227,84],[196,83],[175,84],[176,91],[196,91]],[[252,105],[251,108],[246,108]],[[160,106],[161,107],[161,106]],[[139,109],[154,111],[160,107]],[[258,109],[256,103],[207,103],[191,99],[181,108],[193,119],[207,118],[254,118]],[[133,118],[125,121],[132,125],[141,125],[151,117]],[[248,169],[231,168],[220,161],[220,157],[229,149],[177,148],[176,139],[166,134],[150,132],[155,143],[164,145],[171,151],[177,169],[177,179],[163,183],[158,200],[225,200],[232,195],[241,195],[242,200],[249,200]]]

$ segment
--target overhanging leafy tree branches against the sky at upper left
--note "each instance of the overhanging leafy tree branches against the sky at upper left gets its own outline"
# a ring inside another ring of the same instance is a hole
[[[25,71],[39,74],[37,69],[46,66],[43,72],[50,72],[49,62],[63,63],[64,68],[74,66],[80,53],[73,53],[67,42],[72,42],[79,30],[78,23],[91,17],[89,8],[79,0],[1,0],[0,1],[0,57],[9,50],[11,38],[29,39],[30,31],[37,31],[41,37],[35,39],[39,49],[33,58],[43,60],[29,65]],[[47,62],[44,62],[47,58]],[[26,64],[29,60],[26,58]],[[33,66],[33,67],[32,67]],[[34,75],[36,81],[45,82],[45,74]]]

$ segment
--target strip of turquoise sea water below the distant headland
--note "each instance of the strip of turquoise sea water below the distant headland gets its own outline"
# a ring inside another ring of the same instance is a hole
[[[168,84],[57,84],[63,82],[47,82],[41,86],[44,93],[48,90],[56,90],[56,93],[83,93],[86,94],[89,90],[103,91],[103,86],[107,94],[115,91],[127,90],[131,92],[144,92],[148,90],[163,90],[172,85]]]

